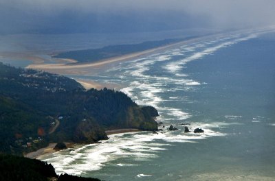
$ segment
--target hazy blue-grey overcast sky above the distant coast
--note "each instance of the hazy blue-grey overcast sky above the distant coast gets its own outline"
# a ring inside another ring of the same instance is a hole
[[[0,0],[0,33],[154,32],[275,24],[274,0]]]

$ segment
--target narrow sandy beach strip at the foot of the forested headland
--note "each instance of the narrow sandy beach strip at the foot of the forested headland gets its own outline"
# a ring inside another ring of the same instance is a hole
[[[122,133],[128,133],[128,132],[141,132],[142,130],[138,130],[135,128],[126,128],[126,129],[117,129],[117,130],[106,130],[106,134],[112,135],[112,134],[122,134]],[[56,152],[59,152],[61,150],[65,149],[54,149],[57,143],[49,143],[47,147],[42,147],[34,152],[30,152],[28,154],[25,154],[25,158],[32,158],[32,159],[39,159],[41,156],[46,156],[49,154],[54,154]],[[91,144],[91,143],[89,143]],[[89,145],[89,144],[82,144],[82,143],[74,143],[74,142],[65,142],[65,145],[67,146],[66,149],[68,148],[74,148],[77,145]]]

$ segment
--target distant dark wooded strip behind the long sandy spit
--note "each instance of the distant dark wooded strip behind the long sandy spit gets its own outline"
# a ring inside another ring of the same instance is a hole
[[[129,53],[135,53],[138,51],[145,51],[147,49],[153,49],[156,47],[162,47],[172,43],[177,43],[181,40],[188,40],[189,37],[185,39],[166,39],[158,41],[148,41],[133,45],[111,45],[107,47],[102,47],[100,49],[85,49],[78,51],[67,51],[64,53],[59,53],[54,58],[70,58],[77,60],[78,62],[97,62],[98,60],[112,58],[115,56],[123,56]]]

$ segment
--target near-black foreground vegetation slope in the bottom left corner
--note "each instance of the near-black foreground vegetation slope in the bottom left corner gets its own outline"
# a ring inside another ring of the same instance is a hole
[[[58,176],[54,167],[47,162],[5,154],[0,154],[0,170],[0,180],[5,181],[100,181],[96,178],[81,178],[68,174]]]

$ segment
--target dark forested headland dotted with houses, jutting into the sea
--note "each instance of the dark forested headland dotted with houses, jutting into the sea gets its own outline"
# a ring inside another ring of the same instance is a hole
[[[157,130],[157,110],[124,93],[0,62],[0,153],[22,154],[50,142],[95,143],[104,130]]]

